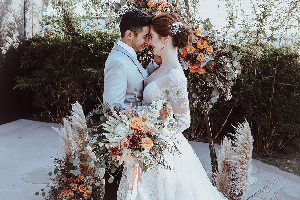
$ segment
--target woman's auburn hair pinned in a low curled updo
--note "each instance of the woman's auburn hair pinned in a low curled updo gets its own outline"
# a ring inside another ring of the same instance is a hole
[[[186,48],[191,45],[194,40],[192,29],[183,25],[175,34],[172,35],[171,28],[173,23],[181,22],[181,17],[175,13],[162,13],[153,18],[151,27],[161,37],[172,37],[174,47]]]

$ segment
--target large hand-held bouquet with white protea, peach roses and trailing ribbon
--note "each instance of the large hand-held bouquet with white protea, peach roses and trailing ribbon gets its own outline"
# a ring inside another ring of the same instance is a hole
[[[143,171],[156,165],[170,168],[164,158],[165,151],[179,153],[173,136],[175,131],[172,130],[176,122],[170,115],[158,120],[163,109],[171,110],[170,102],[153,101],[146,110],[139,108],[136,113],[131,105],[126,110],[122,110],[121,104],[117,105],[118,108],[107,106],[109,112],[103,112],[100,119],[104,123],[89,132],[98,167],[107,168],[109,165],[112,172],[121,165],[138,163],[143,164]]]

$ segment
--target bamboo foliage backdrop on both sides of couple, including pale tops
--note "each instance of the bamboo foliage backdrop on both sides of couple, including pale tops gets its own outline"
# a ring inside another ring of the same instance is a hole
[[[209,113],[214,137],[232,133],[231,124],[246,118],[257,150],[270,153],[300,147],[299,40],[291,40],[296,37],[286,34],[295,27],[289,22],[297,19],[299,6],[293,5],[299,5],[299,1],[293,0],[284,7],[282,23],[272,17],[283,9],[277,0],[253,3],[250,14],[236,12],[242,8],[231,0],[225,1],[228,11],[225,28],[231,36],[227,41],[243,55],[244,71],[232,86],[233,98],[215,104]],[[93,28],[97,26],[88,26],[87,18],[93,17],[93,13],[88,13],[88,17],[78,16],[70,6],[74,2],[66,2],[53,5],[55,12],[44,17],[42,34],[30,40],[22,67],[32,73],[17,77],[15,87],[33,91],[34,104],[57,122],[69,115],[69,105],[75,101],[86,105],[102,100],[104,63],[119,37]],[[91,1],[86,8],[98,10],[100,3]],[[191,117],[191,126],[184,134],[190,140],[202,140],[206,135],[204,116],[191,107]]]

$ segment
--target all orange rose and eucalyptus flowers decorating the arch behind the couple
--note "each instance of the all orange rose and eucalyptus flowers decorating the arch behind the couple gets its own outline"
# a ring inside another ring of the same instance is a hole
[[[190,106],[209,111],[220,97],[225,100],[232,98],[231,86],[241,74],[242,58],[232,47],[226,44],[226,35],[213,29],[209,19],[201,22],[195,13],[187,11],[184,2],[168,0],[121,0],[103,5],[108,12],[118,12],[118,22],[123,13],[134,8],[140,9],[155,17],[163,12],[178,13],[182,22],[191,27],[195,39],[186,49],[178,49],[178,59],[188,80]],[[221,36],[222,35],[222,36]],[[142,63],[153,56],[151,46],[146,46],[138,59]]]

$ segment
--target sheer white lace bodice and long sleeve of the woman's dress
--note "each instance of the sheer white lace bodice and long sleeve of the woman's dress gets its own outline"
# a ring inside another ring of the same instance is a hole
[[[181,133],[187,129],[190,126],[190,109],[187,95],[187,79],[183,71],[172,69],[163,77],[151,83],[146,82],[146,85],[143,93],[143,106],[150,105],[153,100],[167,99],[173,103],[173,113],[181,114],[178,117],[175,116],[176,122],[180,123],[174,125],[176,132]],[[165,93],[166,90],[170,92],[169,95]],[[176,95],[177,91],[180,92],[179,96]],[[178,100],[179,104],[175,104],[175,100]]]

